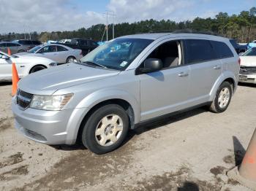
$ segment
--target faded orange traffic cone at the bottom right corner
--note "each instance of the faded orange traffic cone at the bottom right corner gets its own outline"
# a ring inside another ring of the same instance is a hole
[[[245,187],[256,190],[256,129],[241,165],[228,171],[227,176]]]

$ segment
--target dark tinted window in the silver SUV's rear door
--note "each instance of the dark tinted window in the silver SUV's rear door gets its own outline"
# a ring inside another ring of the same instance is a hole
[[[187,63],[197,63],[217,59],[213,47],[208,40],[187,39]]]

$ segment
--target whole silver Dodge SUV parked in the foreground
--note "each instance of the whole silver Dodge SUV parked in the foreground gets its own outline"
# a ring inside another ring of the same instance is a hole
[[[141,122],[202,105],[224,112],[238,71],[238,55],[229,39],[122,36],[79,62],[21,79],[12,99],[15,127],[41,143],[81,140],[92,152],[110,152]]]

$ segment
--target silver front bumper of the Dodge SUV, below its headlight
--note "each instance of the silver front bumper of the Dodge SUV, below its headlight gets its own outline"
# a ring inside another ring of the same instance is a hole
[[[44,144],[75,144],[84,109],[44,111],[20,109],[12,98],[15,128],[29,139]]]

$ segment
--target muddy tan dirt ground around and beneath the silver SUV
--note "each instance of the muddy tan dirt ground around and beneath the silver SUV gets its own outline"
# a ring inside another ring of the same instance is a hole
[[[106,155],[24,138],[10,93],[0,84],[0,190],[247,190],[226,172],[256,128],[256,86],[240,85],[222,114],[200,108],[132,130]]]

